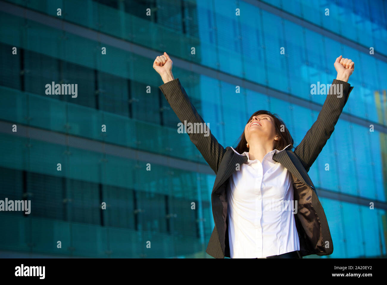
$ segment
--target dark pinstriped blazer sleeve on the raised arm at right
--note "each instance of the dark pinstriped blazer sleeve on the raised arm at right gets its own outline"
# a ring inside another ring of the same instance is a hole
[[[342,86],[342,88],[334,88],[333,85]],[[330,135],[332,135],[352,89],[353,86],[345,81],[333,80],[317,120],[307,131],[301,143],[295,148],[294,153],[307,172],[317,159],[325,143],[327,143]],[[340,94],[340,91],[342,91],[342,94]]]

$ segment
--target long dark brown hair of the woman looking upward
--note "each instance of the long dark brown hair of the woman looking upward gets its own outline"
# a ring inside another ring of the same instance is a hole
[[[279,135],[280,139],[276,141],[276,144],[274,145],[274,149],[277,150],[283,150],[287,145],[289,145],[288,149],[293,149],[293,138],[291,137],[288,128],[286,128],[285,123],[280,119],[278,114],[276,113],[271,113],[270,111],[266,110],[259,110],[255,112],[254,114],[251,115],[250,119],[248,119],[247,122],[250,122],[250,120],[253,118],[253,116],[259,116],[259,115],[269,115],[273,117],[274,119],[274,127],[276,128],[276,133]],[[283,128],[282,128],[283,126]],[[283,131],[281,131],[281,128]],[[242,135],[238,138],[239,143],[234,149],[239,153],[243,154],[243,152],[248,152],[248,147],[247,147],[247,140],[245,137],[245,130],[243,130]]]

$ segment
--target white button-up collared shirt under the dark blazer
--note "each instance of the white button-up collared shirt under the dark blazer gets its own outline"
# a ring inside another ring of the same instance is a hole
[[[231,258],[267,257],[300,250],[293,180],[290,171],[273,160],[274,153],[278,152],[277,149],[268,152],[262,163],[258,159],[250,160],[248,152],[244,152],[247,162],[240,170],[236,166],[229,178],[227,214]]]

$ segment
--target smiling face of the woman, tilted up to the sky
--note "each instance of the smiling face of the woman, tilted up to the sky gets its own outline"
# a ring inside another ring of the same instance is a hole
[[[245,126],[245,137],[247,142],[255,135],[274,140],[276,137],[276,128],[272,116],[260,114],[258,116],[253,116],[252,119],[248,121]]]

